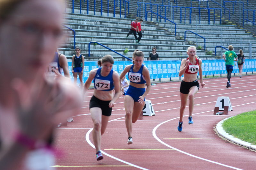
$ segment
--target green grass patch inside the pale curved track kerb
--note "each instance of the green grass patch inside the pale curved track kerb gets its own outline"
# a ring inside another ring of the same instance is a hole
[[[233,137],[256,145],[256,110],[231,117],[222,127]]]

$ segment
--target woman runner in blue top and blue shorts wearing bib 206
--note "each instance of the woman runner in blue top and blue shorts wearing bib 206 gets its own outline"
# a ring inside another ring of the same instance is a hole
[[[143,59],[143,52],[135,50],[132,55],[133,64],[126,66],[120,75],[120,82],[126,73],[130,79],[130,86],[124,96],[125,125],[128,132],[127,144],[132,144],[132,123],[137,121],[145,105],[146,95],[151,88],[149,71],[142,64]],[[146,83],[147,88],[145,90]]]

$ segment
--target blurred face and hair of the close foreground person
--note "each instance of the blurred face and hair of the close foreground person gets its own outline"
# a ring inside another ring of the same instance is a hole
[[[27,0],[0,21],[0,59],[6,71],[17,77],[44,73],[60,42],[61,9],[56,0]]]

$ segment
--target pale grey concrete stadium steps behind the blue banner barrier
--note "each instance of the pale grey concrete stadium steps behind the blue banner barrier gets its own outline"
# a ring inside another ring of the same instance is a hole
[[[182,2],[183,0],[178,1]],[[137,5],[137,1],[134,0],[130,0],[130,3],[134,3]],[[98,5],[96,10],[96,13],[98,14],[97,16],[69,12],[65,13],[66,18],[64,24],[76,30],[76,46],[79,46],[81,48],[82,54],[84,53],[85,56],[86,54],[88,54],[88,43],[90,41],[97,41],[107,46],[108,48],[117,50],[117,52],[119,52],[120,54],[123,54],[124,49],[128,48],[129,51],[126,54],[127,56],[131,56],[134,49],[142,50],[145,53],[145,56],[147,56],[149,52],[151,52],[152,48],[156,47],[160,59],[164,60],[168,59],[168,57],[172,59],[177,57],[178,59],[180,58],[179,56],[186,57],[186,50],[189,46],[195,45],[202,46],[204,48],[203,39],[198,36],[196,38],[195,34],[193,33],[187,32],[187,41],[184,41],[184,32],[186,30],[193,31],[205,37],[206,49],[208,51],[214,51],[215,46],[220,45],[228,48],[228,45],[231,44],[234,46],[234,51],[236,53],[238,53],[238,50],[242,48],[244,50],[244,55],[248,56],[249,43],[251,42],[253,53],[252,55],[255,55],[254,45],[256,44],[256,39],[252,37],[252,34],[246,33],[246,30],[237,28],[235,25],[231,24],[217,25],[215,23],[215,25],[208,25],[208,19],[205,23],[201,22],[201,24],[199,25],[198,21],[196,21],[195,19],[192,22],[194,24],[178,24],[180,22],[180,18],[175,18],[174,22],[177,23],[177,36],[174,35],[174,24],[171,24],[169,21],[167,21],[166,23],[163,22],[164,19],[162,19],[162,22],[144,21],[141,25],[142,29],[145,30],[143,31],[143,37],[140,41],[141,44],[135,44],[133,34],[129,35],[128,38],[125,37],[130,30],[131,21],[138,17],[132,16],[132,18],[118,18],[120,17],[120,15],[116,15],[116,18],[111,17],[111,15],[110,17],[106,17],[106,12],[103,12],[103,16],[99,16],[99,7],[100,6]],[[131,7],[132,6],[130,6],[130,9],[132,9]],[[76,10],[77,9],[79,9],[79,6],[76,6]],[[71,9],[68,9],[67,11],[70,10]],[[86,13],[86,11],[82,10],[82,13]],[[90,11],[89,13],[92,14],[93,12]],[[123,14],[122,17],[124,17]],[[154,20],[156,20],[156,16]],[[61,48],[60,52],[63,52],[67,56],[72,56],[75,52],[74,49],[72,49],[73,35],[71,31],[68,31],[68,29],[65,28],[64,30],[67,32],[68,35],[66,38],[66,42],[63,43],[61,46],[64,48]],[[106,54],[111,54],[113,56],[117,55],[116,53],[113,53],[108,49],[101,47],[100,45],[94,46],[93,44],[91,44],[91,49],[91,54],[96,57],[104,56]],[[217,55],[222,55],[218,53],[223,53],[224,51],[224,49],[217,48]],[[212,54],[213,53],[214,52],[212,52]],[[206,58],[208,56],[210,58],[212,57],[211,55],[206,55],[206,52],[203,50],[197,50],[197,55],[206,56]]]

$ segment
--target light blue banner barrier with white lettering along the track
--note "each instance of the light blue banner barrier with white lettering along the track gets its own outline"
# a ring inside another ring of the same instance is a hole
[[[148,68],[151,79],[179,77],[180,63],[181,63],[180,60],[144,61],[144,65]],[[124,68],[129,64],[132,64],[132,61],[115,61],[113,65],[113,70],[115,70],[120,75],[124,70]],[[84,82],[89,77],[90,70],[93,70],[96,68],[98,68],[97,61],[84,62],[84,73],[83,73]],[[68,69],[69,69],[71,80],[74,80],[73,74],[72,74],[71,62],[68,62]],[[203,76],[227,73],[226,64],[224,60],[203,60],[202,70],[203,70]],[[253,72],[253,71],[256,71],[256,59],[245,59],[243,72]],[[235,62],[234,62],[233,73],[239,73],[238,66],[235,65]],[[128,75],[126,76],[128,78]],[[77,78],[77,83],[79,84],[79,78]]]

